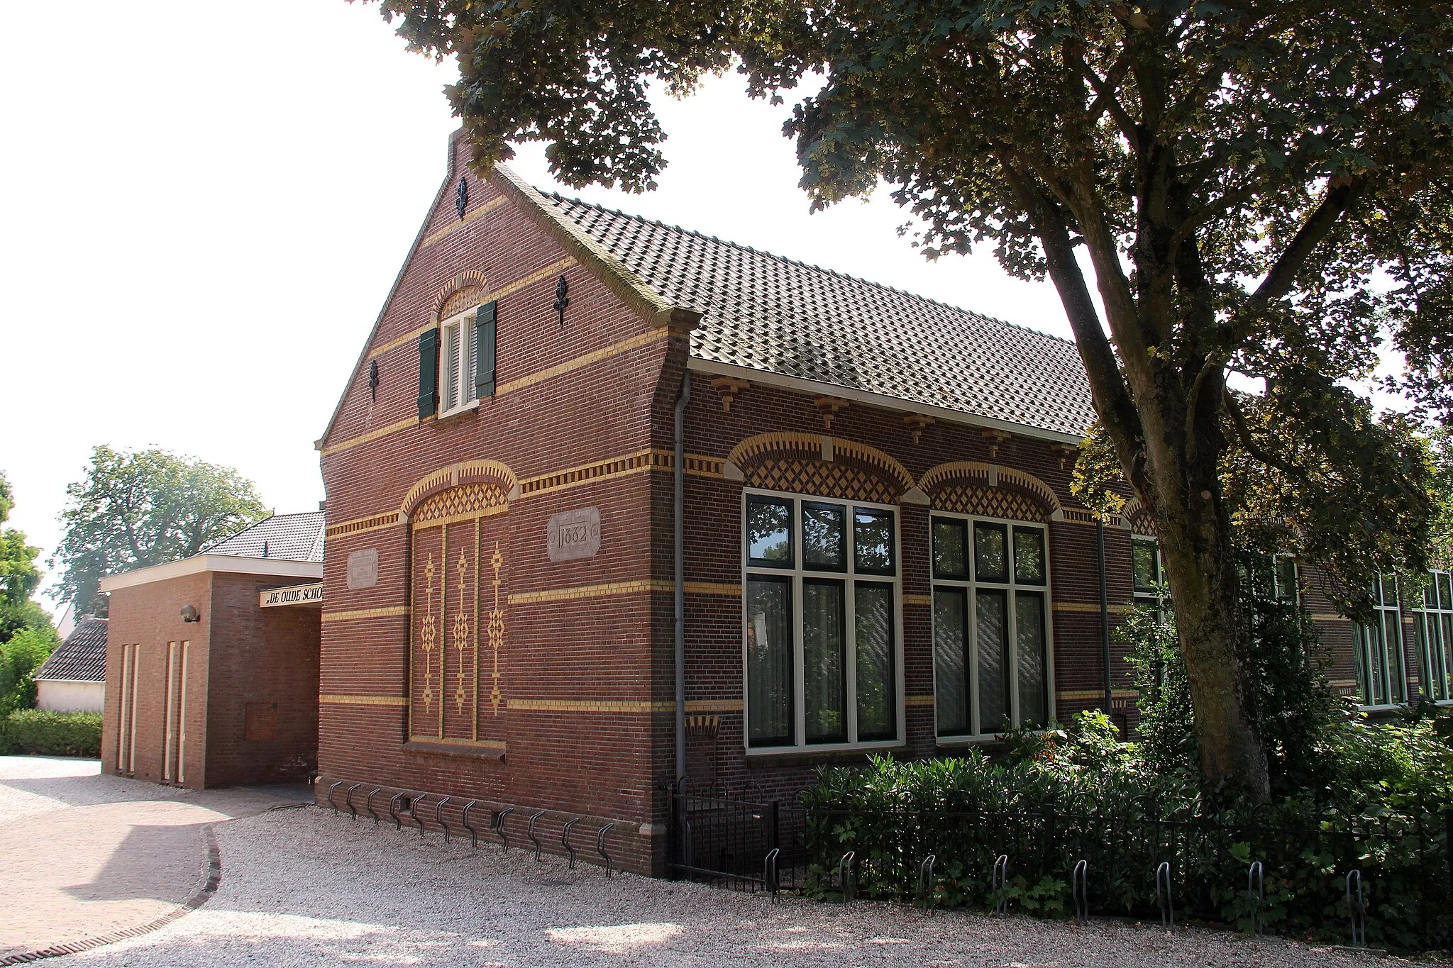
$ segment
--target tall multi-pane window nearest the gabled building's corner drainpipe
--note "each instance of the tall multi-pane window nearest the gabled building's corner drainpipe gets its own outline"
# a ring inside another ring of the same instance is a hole
[[[892,508],[747,493],[747,745],[899,736]]]

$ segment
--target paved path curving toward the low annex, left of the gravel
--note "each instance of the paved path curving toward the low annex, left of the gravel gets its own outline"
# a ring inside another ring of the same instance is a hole
[[[0,756],[0,962],[173,920],[205,898],[211,824],[283,804],[276,792],[196,794],[102,776],[96,760]]]

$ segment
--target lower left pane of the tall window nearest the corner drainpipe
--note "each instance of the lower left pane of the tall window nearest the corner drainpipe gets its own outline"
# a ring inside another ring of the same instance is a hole
[[[792,586],[785,579],[747,581],[747,742],[792,743]]]

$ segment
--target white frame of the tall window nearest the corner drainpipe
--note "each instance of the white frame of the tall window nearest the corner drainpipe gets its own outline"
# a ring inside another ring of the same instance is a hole
[[[792,501],[792,567],[761,567],[751,565],[751,549],[747,543],[747,499],[750,496],[783,498]],[[841,572],[827,572],[802,567],[802,505],[806,504],[835,504],[846,508],[847,528],[847,569]],[[873,511],[888,511],[894,515],[894,573],[859,573],[853,544],[853,508],[867,508]],[[907,715],[904,711],[904,602],[902,602],[902,514],[898,505],[875,504],[872,501],[853,501],[849,498],[827,498],[822,495],[798,493],[792,491],[766,491],[761,488],[742,488],[741,512],[737,525],[737,536],[741,540],[741,708],[742,729],[741,742],[747,756],[776,756],[782,753],[830,753],[834,750],[873,750],[897,749],[907,743]],[[792,734],[793,743],[785,746],[753,746],[751,745],[751,695],[747,684],[747,582],[754,576],[788,579],[792,588]],[[802,634],[802,582],[804,579],[822,578],[841,581],[843,589],[843,634],[847,640],[846,655],[846,695],[847,705],[847,736],[846,743],[808,743],[806,742],[806,673],[805,647]],[[886,740],[854,742],[857,736],[857,623],[856,588],[857,582],[875,585],[892,585],[894,596],[894,713],[897,717],[897,736]]]

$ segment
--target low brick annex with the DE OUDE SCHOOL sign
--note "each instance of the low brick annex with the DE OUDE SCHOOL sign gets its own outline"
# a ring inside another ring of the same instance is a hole
[[[323,517],[273,515],[201,554],[102,579],[102,769],[193,789],[312,772]]]

